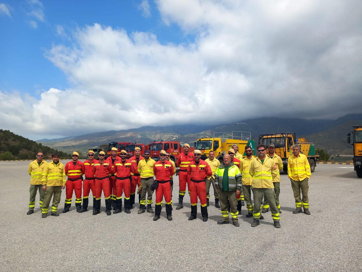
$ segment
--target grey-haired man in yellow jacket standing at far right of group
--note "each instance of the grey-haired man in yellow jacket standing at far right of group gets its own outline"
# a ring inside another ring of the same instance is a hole
[[[302,213],[302,206],[305,214],[309,211],[308,180],[311,178],[311,167],[306,155],[300,153],[299,145],[292,146],[293,154],[288,158],[288,177],[292,183],[295,198],[294,214]],[[300,198],[302,191],[302,198]]]

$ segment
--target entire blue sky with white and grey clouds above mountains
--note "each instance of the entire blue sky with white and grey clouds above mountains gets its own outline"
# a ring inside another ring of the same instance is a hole
[[[354,0],[0,0],[0,128],[360,113],[361,18]]]

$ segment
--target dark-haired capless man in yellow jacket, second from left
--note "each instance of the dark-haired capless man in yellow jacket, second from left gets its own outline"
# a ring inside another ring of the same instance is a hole
[[[64,170],[64,165],[59,161],[59,154],[52,154],[51,159],[52,161],[44,166],[42,173],[42,189],[45,191],[42,218],[47,217],[50,200],[53,194],[51,215],[59,216],[58,205],[60,202],[60,195],[62,194],[62,189],[66,186],[66,172]]]

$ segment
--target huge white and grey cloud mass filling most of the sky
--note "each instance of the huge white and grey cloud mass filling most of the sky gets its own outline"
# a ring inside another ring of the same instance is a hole
[[[43,91],[31,108],[30,98],[17,98],[21,112],[1,119],[24,116],[38,131],[67,136],[361,112],[362,2],[353,3],[157,0],[162,20],[193,33],[193,42],[161,44],[153,33],[99,24],[77,29],[72,46],[45,54],[76,87]]]

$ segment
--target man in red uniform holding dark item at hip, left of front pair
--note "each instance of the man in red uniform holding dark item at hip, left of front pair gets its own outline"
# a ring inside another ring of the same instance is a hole
[[[156,206],[153,221],[157,221],[160,218],[163,197],[165,197],[166,202],[167,220],[172,220],[171,178],[173,173],[172,163],[166,160],[166,151],[161,150],[160,160],[153,165],[153,174],[159,184],[156,188]]]

